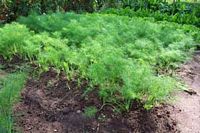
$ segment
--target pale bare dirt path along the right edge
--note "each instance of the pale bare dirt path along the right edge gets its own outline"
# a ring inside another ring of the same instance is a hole
[[[181,133],[200,133],[200,52],[183,65],[179,74],[191,94],[180,92],[177,95],[172,117],[177,121]]]

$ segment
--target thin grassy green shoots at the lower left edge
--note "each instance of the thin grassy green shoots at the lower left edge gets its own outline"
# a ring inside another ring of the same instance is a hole
[[[0,132],[13,132],[12,107],[19,100],[26,74],[16,72],[0,79]]]

